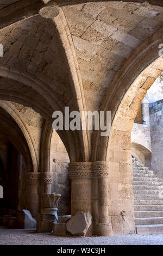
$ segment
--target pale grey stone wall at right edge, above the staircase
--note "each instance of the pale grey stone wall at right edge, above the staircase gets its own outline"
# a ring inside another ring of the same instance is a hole
[[[152,161],[151,167],[155,174],[163,177],[163,100],[149,104],[151,125]]]

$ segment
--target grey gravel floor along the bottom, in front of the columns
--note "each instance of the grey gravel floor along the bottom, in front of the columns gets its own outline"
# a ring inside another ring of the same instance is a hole
[[[58,237],[35,230],[0,228],[0,245],[163,245],[163,234]]]

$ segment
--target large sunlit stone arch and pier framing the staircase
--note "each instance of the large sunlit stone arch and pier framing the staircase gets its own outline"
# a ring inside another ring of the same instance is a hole
[[[163,58],[158,56],[161,41],[162,29],[137,48],[118,74],[117,83],[115,80],[112,84],[117,86],[112,100],[103,105],[103,109],[112,113],[112,124],[109,138],[101,139],[103,147],[99,147],[101,154],[98,157],[109,164],[109,215],[116,233],[119,228],[117,222],[123,222],[123,211],[126,215],[121,227],[123,232],[128,232],[128,221],[133,230],[135,227],[131,130],[147,89],[163,70]],[[107,98],[105,100],[106,103]]]

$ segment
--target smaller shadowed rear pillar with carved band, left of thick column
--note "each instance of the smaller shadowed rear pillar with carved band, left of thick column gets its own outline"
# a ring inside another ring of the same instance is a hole
[[[26,174],[27,209],[35,217],[41,211],[41,194],[51,193],[53,174],[48,172]]]

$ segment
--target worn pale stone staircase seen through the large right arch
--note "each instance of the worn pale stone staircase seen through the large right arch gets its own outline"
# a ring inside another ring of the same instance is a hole
[[[133,192],[136,233],[163,234],[163,179],[133,160]]]

